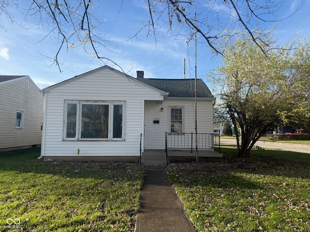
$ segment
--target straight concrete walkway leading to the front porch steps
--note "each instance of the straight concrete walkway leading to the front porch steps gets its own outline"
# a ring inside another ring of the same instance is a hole
[[[144,166],[135,232],[196,232],[162,166]]]

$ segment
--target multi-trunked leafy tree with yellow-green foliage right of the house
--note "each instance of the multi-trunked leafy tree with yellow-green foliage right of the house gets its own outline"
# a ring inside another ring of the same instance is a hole
[[[248,156],[265,132],[306,123],[310,117],[309,41],[297,38],[269,50],[276,42],[271,35],[264,41],[269,44],[260,43],[265,52],[245,34],[231,41],[214,73],[222,105],[233,122],[238,156]]]

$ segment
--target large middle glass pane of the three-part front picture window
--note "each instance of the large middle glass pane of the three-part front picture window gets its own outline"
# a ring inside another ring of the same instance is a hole
[[[109,105],[82,104],[81,138],[108,138]]]

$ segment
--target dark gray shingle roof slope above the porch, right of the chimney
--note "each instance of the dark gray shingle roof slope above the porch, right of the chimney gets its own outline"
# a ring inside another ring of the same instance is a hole
[[[169,92],[168,97],[195,97],[194,79],[139,78],[138,80],[162,91]],[[198,98],[213,98],[210,89],[206,86],[202,79],[196,80],[196,86]]]

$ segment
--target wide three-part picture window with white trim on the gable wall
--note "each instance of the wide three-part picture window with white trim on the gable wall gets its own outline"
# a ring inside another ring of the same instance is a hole
[[[124,140],[125,102],[65,101],[64,140]]]

